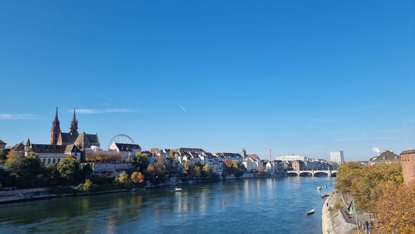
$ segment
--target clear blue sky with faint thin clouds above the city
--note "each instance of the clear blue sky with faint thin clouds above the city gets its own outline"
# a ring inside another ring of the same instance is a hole
[[[0,31],[8,145],[48,143],[76,107],[102,145],[415,148],[414,1],[0,0]]]

